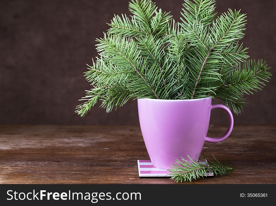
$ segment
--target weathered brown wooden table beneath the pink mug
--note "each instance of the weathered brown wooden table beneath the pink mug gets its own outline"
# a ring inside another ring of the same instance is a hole
[[[211,125],[208,136],[225,130]],[[231,159],[235,173],[184,184],[275,184],[275,134],[276,125],[235,125],[203,149]],[[149,159],[139,126],[0,125],[0,183],[174,183],[139,178],[137,159]]]

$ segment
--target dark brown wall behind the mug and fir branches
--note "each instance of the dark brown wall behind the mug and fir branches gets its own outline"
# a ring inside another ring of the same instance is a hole
[[[156,0],[180,17],[182,0]],[[274,77],[263,91],[248,97],[249,107],[236,123],[276,123],[276,28],[274,0],[217,0],[217,11],[247,13],[244,44],[252,58],[263,58]],[[117,112],[93,108],[84,118],[74,114],[77,100],[89,89],[83,77],[96,56],[114,13],[128,13],[128,0],[5,0],[0,6],[0,124],[138,124],[137,103]],[[211,122],[225,123],[214,111]]]

